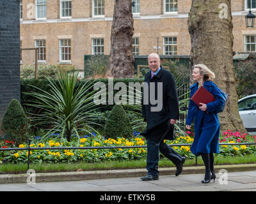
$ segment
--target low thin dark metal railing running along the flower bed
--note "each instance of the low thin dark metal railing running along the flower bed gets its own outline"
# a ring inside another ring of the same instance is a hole
[[[30,164],[30,151],[31,150],[52,150],[52,149],[129,149],[129,148],[147,148],[147,145],[140,146],[120,146],[120,147],[30,147],[31,140],[28,141],[28,147],[26,148],[2,148],[0,151],[12,151],[12,150],[28,150],[28,170]],[[191,146],[191,143],[182,143],[182,144],[172,144],[168,145],[170,147],[174,146]],[[219,143],[219,145],[256,145],[256,143]],[[197,166],[197,157],[195,157],[195,166]]]

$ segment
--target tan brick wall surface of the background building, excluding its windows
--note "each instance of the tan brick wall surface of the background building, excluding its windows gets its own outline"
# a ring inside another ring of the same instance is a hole
[[[46,62],[57,64],[59,61],[59,39],[71,39],[71,61],[77,69],[83,69],[84,55],[92,54],[92,38],[104,38],[104,54],[110,52],[111,17],[113,17],[114,0],[104,1],[105,17],[92,17],[92,0],[72,1],[72,18],[60,18],[60,0],[47,1],[47,20],[33,20],[26,16],[27,4],[35,4],[35,0],[23,0],[23,20],[20,25],[22,47],[35,47],[35,40],[46,40]],[[134,37],[140,38],[140,55],[156,52],[154,47],[159,40],[159,54],[163,54],[163,37],[177,36],[177,54],[189,55],[191,48],[188,33],[188,13],[192,0],[178,1],[178,14],[166,15],[163,0],[140,0],[140,16],[134,16]],[[256,29],[245,27],[244,0],[231,1],[233,19],[234,51],[243,52],[244,34],[255,34]],[[237,15],[237,12],[239,15]],[[28,23],[29,22],[29,23]],[[22,52],[23,64],[31,64],[35,60],[32,51]],[[70,65],[70,64],[67,64]]]

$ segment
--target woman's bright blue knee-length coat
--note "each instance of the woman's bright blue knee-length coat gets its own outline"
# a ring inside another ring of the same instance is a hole
[[[204,88],[215,97],[215,101],[207,103],[207,111],[198,108],[198,105],[191,99],[189,100],[188,117],[186,125],[191,125],[195,119],[195,138],[190,150],[195,156],[199,153],[220,153],[219,136],[220,121],[216,108],[221,105],[221,93],[218,87],[211,81],[204,82]],[[190,98],[198,89],[198,82],[191,85]]]

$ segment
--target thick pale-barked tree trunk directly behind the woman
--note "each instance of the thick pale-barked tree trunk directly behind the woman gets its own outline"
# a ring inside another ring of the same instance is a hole
[[[218,87],[229,95],[225,111],[219,113],[221,131],[247,133],[237,105],[230,0],[193,0],[188,29],[191,70],[195,64],[205,64],[215,73]]]

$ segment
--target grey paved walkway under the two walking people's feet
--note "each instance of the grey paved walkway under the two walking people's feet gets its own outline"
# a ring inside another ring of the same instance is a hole
[[[140,177],[89,179],[35,184],[0,184],[0,191],[256,191],[256,171],[216,172],[217,179],[202,184],[204,173],[163,175],[159,180],[141,181]],[[102,193],[103,194],[103,193]]]

